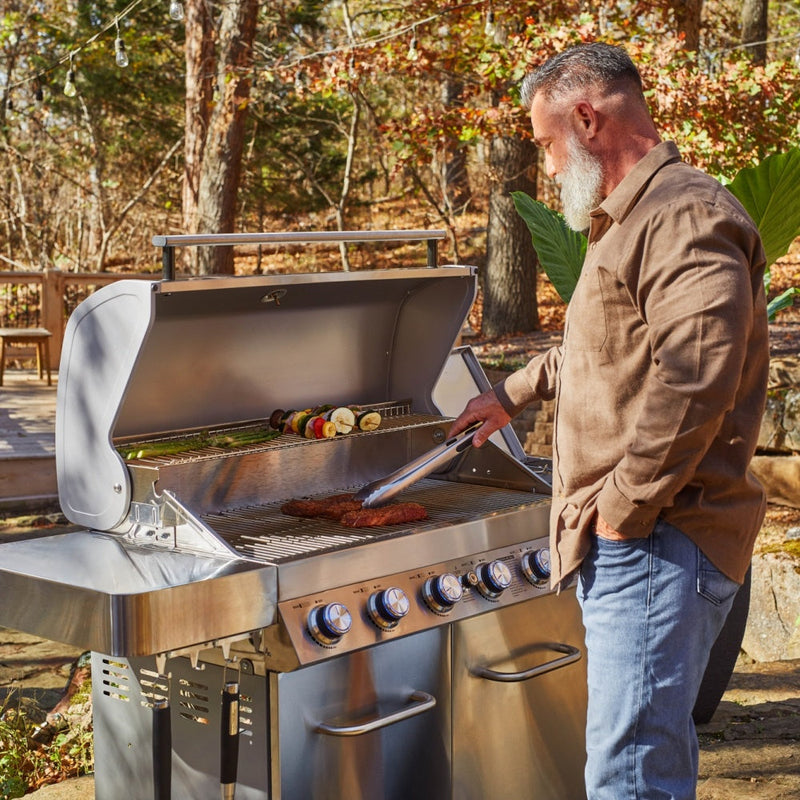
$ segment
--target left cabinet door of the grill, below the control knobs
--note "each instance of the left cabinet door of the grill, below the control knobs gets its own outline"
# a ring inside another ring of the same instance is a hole
[[[272,800],[450,796],[449,629],[425,631],[297,672],[271,673]],[[436,704],[423,708],[419,692]],[[361,730],[331,735],[331,728]],[[280,731],[280,735],[277,735]]]

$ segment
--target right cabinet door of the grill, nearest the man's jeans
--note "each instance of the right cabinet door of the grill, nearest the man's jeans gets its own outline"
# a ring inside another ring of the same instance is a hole
[[[581,800],[586,661],[524,679],[564,651],[585,655],[575,590],[453,626],[453,797]],[[561,661],[560,663],[564,663]],[[487,668],[513,680],[490,680]]]

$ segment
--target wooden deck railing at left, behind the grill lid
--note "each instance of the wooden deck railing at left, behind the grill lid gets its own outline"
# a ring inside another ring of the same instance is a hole
[[[50,367],[57,369],[61,359],[64,326],[78,304],[101,286],[133,278],[158,280],[159,273],[0,272],[0,327],[47,328],[50,340]]]

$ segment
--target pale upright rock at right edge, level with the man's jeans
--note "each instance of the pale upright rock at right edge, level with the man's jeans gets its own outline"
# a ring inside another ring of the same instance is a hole
[[[742,650],[754,661],[800,658],[800,559],[753,556],[750,613]]]

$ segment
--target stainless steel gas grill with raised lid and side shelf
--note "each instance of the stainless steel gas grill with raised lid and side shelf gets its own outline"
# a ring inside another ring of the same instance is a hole
[[[85,530],[0,546],[0,623],[93,651],[96,796],[580,798],[582,628],[547,584],[546,462],[509,429],[404,489],[421,521],[281,510],[447,440],[485,388],[453,350],[474,268],[435,265],[443,232],[354,232],[322,238],[427,240],[429,266],[174,280],[175,246],[265,236],[157,237],[164,280],[78,308],[56,455]],[[322,403],[381,425],[267,433]]]

